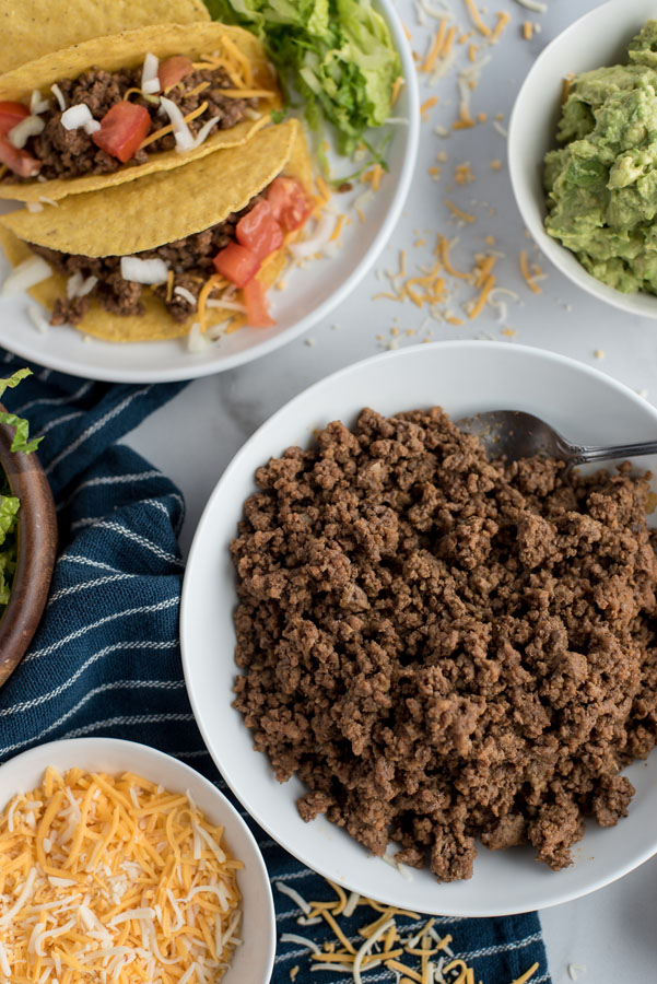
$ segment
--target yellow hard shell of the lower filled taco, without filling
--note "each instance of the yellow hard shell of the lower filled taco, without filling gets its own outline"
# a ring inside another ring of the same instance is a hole
[[[84,256],[129,256],[223,222],[281,173],[295,177],[310,194],[310,160],[296,120],[257,133],[248,151],[231,148],[174,172],[150,175],[103,192],[77,195],[59,208],[2,215],[0,245],[12,266],[34,256],[28,243]],[[163,201],[167,202],[166,211],[162,211]],[[271,286],[285,263],[284,249],[272,254],[258,279],[266,288]],[[66,296],[66,278],[55,273],[30,293],[52,311],[57,298]],[[145,313],[139,317],[112,314],[92,301],[77,327],[106,341],[137,342],[187,335],[198,320],[193,314],[187,321],[175,321],[148,289],[143,301]],[[208,308],[207,324],[221,324],[233,314],[224,308]]]

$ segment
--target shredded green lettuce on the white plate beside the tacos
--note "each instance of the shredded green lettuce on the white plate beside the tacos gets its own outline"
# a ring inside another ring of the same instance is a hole
[[[206,0],[218,21],[260,38],[290,98],[294,87],[312,129],[326,119],[338,151],[351,155],[365,130],[390,116],[401,73],[388,26],[369,0]],[[383,163],[383,162],[382,162]]]

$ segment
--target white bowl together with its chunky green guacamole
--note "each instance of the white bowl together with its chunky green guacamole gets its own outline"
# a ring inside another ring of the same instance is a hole
[[[652,318],[656,17],[655,0],[610,0],[572,24],[527,75],[508,137],[516,201],[543,253],[590,294]]]

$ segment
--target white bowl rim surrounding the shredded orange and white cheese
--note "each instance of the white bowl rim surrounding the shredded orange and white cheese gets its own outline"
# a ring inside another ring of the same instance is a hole
[[[51,741],[0,765],[0,811],[16,793],[28,793],[45,770],[79,766],[91,772],[136,772],[174,793],[189,790],[209,820],[225,828],[231,853],[244,862],[237,883],[243,898],[244,944],[237,947],[222,984],[269,984],[275,952],[275,918],[269,876],[254,835],[216,786],[177,759],[134,741],[69,738]]]

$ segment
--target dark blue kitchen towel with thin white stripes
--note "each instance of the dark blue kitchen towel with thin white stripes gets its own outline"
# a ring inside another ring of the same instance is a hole
[[[0,376],[23,364],[0,352]],[[183,499],[167,478],[117,444],[184,384],[106,386],[34,371],[7,393],[5,403],[30,418],[34,435],[45,435],[39,457],[58,507],[60,555],[39,630],[0,690],[0,762],[44,741],[106,735],[176,755],[233,799],[204,750],[183,680],[177,544]],[[269,868],[279,934],[321,945],[332,937],[330,928],[300,925],[297,903],[277,887],[286,886],[307,900],[335,898],[332,889],[240,812]],[[359,927],[373,917],[371,910],[359,907],[352,918],[341,921],[354,945],[362,942]],[[409,934],[423,924],[399,919]],[[435,928],[451,936],[454,954],[474,969],[474,980],[482,984],[511,984],[535,962],[531,984],[550,982],[535,913],[438,918]],[[455,980],[456,970],[446,973],[445,984]],[[365,972],[363,981],[394,984],[396,976],[377,968]],[[279,941],[272,982],[288,984],[292,977],[296,984],[318,980],[305,946]],[[345,976],[325,971],[319,979],[320,984],[342,984]]]

